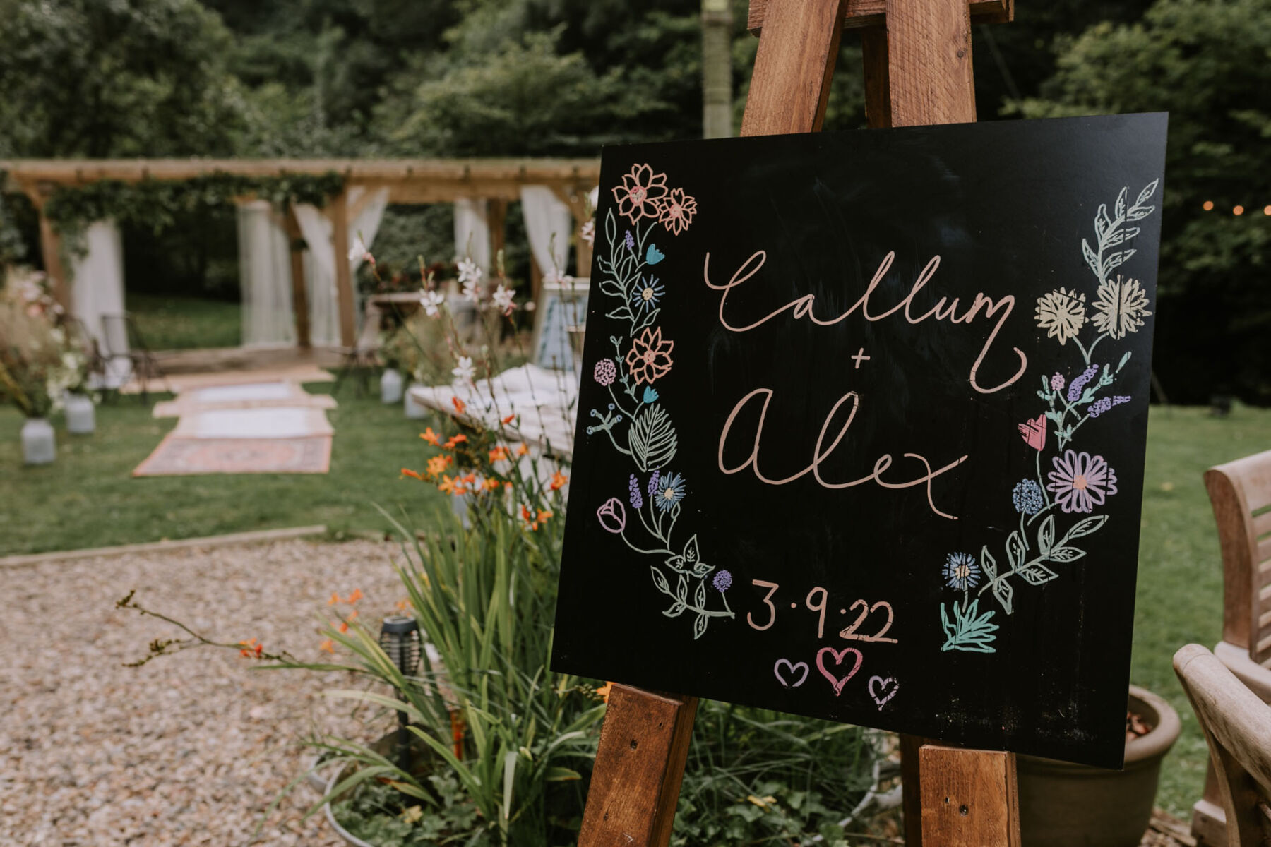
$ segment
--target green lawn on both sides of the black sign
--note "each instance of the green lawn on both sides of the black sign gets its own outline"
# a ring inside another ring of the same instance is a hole
[[[308,386],[311,392],[325,385]],[[418,467],[423,424],[398,405],[342,390],[329,475],[131,479],[175,420],[154,420],[135,399],[98,408],[95,436],[58,433],[57,461],[20,465],[22,419],[0,409],[0,555],[156,541],[327,523],[336,533],[385,531],[372,503],[405,508],[419,524],[441,495],[398,479]],[[1158,805],[1187,817],[1205,776],[1205,740],[1174,677],[1174,650],[1213,646],[1221,635],[1218,535],[1201,480],[1206,467],[1271,448],[1271,410],[1238,406],[1230,418],[1204,409],[1152,410],[1131,679],[1163,695],[1183,734],[1166,759]]]

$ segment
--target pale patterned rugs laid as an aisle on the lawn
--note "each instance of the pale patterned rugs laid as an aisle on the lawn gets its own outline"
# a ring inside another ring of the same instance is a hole
[[[325,474],[334,405],[289,381],[192,389],[155,406],[180,419],[132,475]]]

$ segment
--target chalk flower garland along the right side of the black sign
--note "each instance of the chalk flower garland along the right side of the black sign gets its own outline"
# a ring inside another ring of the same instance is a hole
[[[989,551],[989,545],[980,549],[979,566],[986,580],[975,592],[976,599],[971,599],[970,589],[976,588],[979,577],[976,583],[970,578],[951,578],[952,556],[946,561],[944,584],[961,590],[962,599],[941,604],[941,627],[946,636],[942,650],[995,653],[998,626],[990,621],[999,610],[1004,615],[1014,612],[1016,580],[1043,585],[1057,579],[1065,565],[1085,556],[1087,542],[1080,542],[1082,546],[1074,542],[1094,535],[1108,522],[1108,516],[1093,512],[1117,493],[1116,471],[1101,453],[1073,450],[1069,444],[1085,423],[1130,401],[1129,395],[1106,392],[1130,361],[1130,350],[1121,354],[1115,367],[1112,357],[1106,362],[1092,357],[1104,339],[1115,342],[1136,333],[1144,317],[1152,315],[1148,295],[1139,281],[1121,274],[1113,279],[1112,272],[1135,254],[1129,243],[1139,235],[1139,227],[1131,223],[1155,211],[1148,201],[1159,184],[1159,179],[1148,183],[1132,204],[1129,188],[1122,188],[1111,210],[1101,204],[1094,215],[1094,244],[1082,239],[1082,255],[1096,279],[1091,305],[1094,315],[1089,320],[1087,292],[1075,286],[1071,291],[1056,288],[1037,300],[1035,320],[1038,329],[1046,330],[1046,337],[1060,345],[1073,342],[1082,361],[1068,375],[1040,375],[1037,397],[1043,404],[1042,413],[1017,424],[1021,438],[1033,451],[1036,479],[1021,480],[1010,491],[1019,526],[1007,537],[1005,550],[999,554],[1002,561]],[[1097,333],[1089,343],[1082,338],[1087,325]],[[1082,432],[1091,433],[1089,429]],[[1050,469],[1043,479],[1042,453],[1051,450],[1051,436],[1055,452],[1047,457]],[[1070,519],[1066,516],[1087,517],[1061,530],[1056,518]],[[999,610],[979,611],[979,599],[985,592],[993,596]]]

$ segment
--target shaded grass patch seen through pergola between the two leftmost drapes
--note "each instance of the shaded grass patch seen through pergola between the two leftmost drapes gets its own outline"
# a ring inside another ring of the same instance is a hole
[[[127,295],[128,312],[151,350],[238,347],[243,307],[228,300]]]

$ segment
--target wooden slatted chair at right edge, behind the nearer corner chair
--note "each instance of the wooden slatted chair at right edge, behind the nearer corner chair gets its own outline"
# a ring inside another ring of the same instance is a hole
[[[1271,702],[1271,451],[1205,471],[1223,551],[1223,640],[1214,655],[1262,702]],[[1216,773],[1192,806],[1200,844],[1227,844]]]

